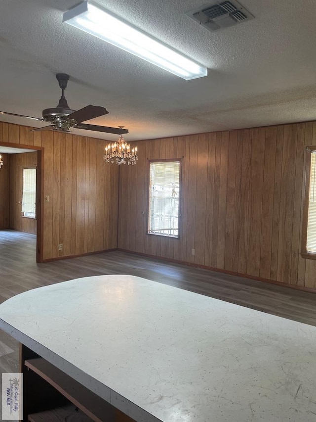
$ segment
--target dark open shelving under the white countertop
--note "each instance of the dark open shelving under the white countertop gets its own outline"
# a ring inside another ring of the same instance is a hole
[[[23,344],[20,372],[23,421],[135,422]]]

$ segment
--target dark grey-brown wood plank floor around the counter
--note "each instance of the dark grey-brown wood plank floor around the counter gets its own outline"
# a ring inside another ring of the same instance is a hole
[[[37,264],[35,248],[35,235],[0,231],[0,302],[60,281],[130,274],[316,326],[316,293],[120,251]],[[1,372],[17,372],[17,363],[17,342],[0,331]]]

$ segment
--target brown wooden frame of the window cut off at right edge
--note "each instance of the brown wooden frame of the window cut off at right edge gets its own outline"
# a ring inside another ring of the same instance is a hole
[[[311,179],[311,161],[312,152],[316,151],[316,145],[309,145],[306,147],[305,153],[305,180],[304,180],[304,207],[303,207],[303,224],[302,224],[302,247],[301,256],[307,259],[316,259],[316,252],[309,252],[306,248],[307,243],[307,226],[308,226],[308,209],[310,197],[310,179]]]

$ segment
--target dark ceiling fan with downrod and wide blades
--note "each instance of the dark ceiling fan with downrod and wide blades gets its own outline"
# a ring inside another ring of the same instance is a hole
[[[94,119],[95,117],[104,116],[109,112],[104,107],[95,105],[87,105],[86,107],[80,108],[80,110],[71,110],[69,107],[66,97],[65,89],[69,81],[69,75],[66,73],[57,73],[56,79],[61,88],[61,97],[57,107],[45,108],[42,111],[43,117],[31,117],[24,116],[22,114],[8,113],[6,111],[0,111],[0,114],[8,114],[10,116],[26,117],[27,119],[38,120],[40,122],[49,122],[49,126],[42,128],[32,129],[32,131],[58,131],[58,132],[69,132],[71,128],[84,129],[87,131],[106,132],[110,134],[123,135],[127,134],[127,129],[122,128],[111,128],[108,126],[89,125],[85,122],[86,120]]]

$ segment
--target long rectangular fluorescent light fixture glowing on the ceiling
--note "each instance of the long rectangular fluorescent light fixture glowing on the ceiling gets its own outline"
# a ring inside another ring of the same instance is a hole
[[[88,1],[65,12],[63,22],[156,64],[187,81],[207,76],[206,67]]]

